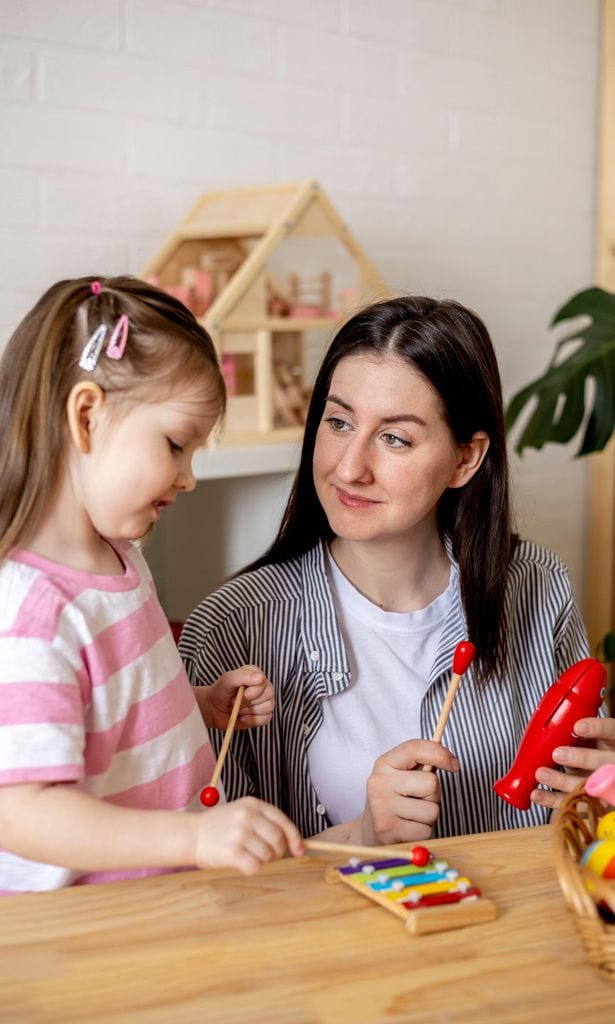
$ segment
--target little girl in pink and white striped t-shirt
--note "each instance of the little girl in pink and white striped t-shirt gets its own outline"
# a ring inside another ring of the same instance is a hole
[[[223,727],[246,683],[243,725],[266,721],[270,690],[249,669],[226,675],[202,691],[202,718],[131,543],[194,487],[192,455],[223,407],[207,333],[130,278],[54,285],[3,354],[4,893],[189,865],[252,873],[301,853],[274,807],[201,808],[215,765],[204,719]]]

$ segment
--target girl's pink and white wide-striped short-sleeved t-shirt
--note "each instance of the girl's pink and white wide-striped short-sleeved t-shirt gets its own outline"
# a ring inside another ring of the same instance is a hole
[[[0,566],[0,785],[74,782],[123,807],[203,810],[215,757],[145,560],[123,575],[14,550]],[[80,873],[0,850],[0,892],[160,873]]]

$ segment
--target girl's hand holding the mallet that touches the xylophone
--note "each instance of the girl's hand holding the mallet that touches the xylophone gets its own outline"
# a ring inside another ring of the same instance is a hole
[[[199,867],[236,867],[256,874],[262,864],[291,853],[303,854],[303,840],[276,807],[255,797],[218,804],[195,814],[194,863]]]

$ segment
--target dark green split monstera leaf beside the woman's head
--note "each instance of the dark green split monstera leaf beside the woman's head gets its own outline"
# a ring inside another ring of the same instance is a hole
[[[589,415],[577,456],[600,452],[615,428],[615,294],[587,288],[574,295],[555,314],[551,327],[588,316],[590,323],[562,338],[553,358],[535,381],[517,392],[507,410],[510,430],[525,406],[537,398],[515,449],[541,449],[547,441],[565,444],[580,430],[585,418],[585,381],[595,387]],[[564,350],[573,350],[563,357]]]

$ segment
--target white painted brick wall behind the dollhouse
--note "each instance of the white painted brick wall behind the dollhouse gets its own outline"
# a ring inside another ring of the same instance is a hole
[[[138,270],[201,191],[314,176],[394,288],[482,313],[511,392],[592,280],[599,7],[0,0],[0,342],[59,276]],[[580,587],[570,454],[515,475]]]

